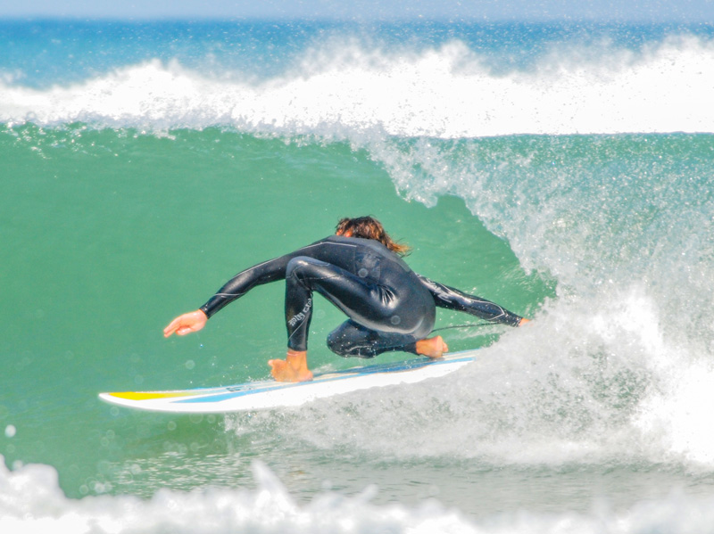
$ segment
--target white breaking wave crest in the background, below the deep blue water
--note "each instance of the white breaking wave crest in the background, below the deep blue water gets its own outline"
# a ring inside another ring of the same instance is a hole
[[[496,70],[461,40],[389,50],[331,39],[256,81],[153,60],[69,86],[0,77],[0,121],[98,127],[233,127],[251,133],[463,138],[514,134],[714,132],[714,44],[668,37],[639,51],[553,45]]]

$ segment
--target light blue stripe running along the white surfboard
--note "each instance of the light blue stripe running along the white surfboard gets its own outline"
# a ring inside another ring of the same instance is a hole
[[[254,395],[257,393],[264,393],[266,391],[273,390],[285,390],[287,388],[297,388],[301,386],[309,386],[315,382],[333,382],[337,380],[345,380],[346,378],[355,378],[357,376],[366,376],[369,374],[380,374],[380,373],[400,373],[403,371],[413,371],[415,369],[421,369],[427,366],[439,366],[445,364],[454,364],[459,362],[469,362],[473,361],[474,357],[464,356],[453,359],[443,359],[443,360],[433,360],[425,358],[423,360],[411,360],[406,362],[394,362],[393,364],[376,364],[374,366],[361,367],[359,371],[354,369],[343,369],[341,371],[334,371],[330,373],[324,373],[316,375],[311,382],[295,382],[295,383],[275,383],[270,384],[265,387],[259,388],[246,388],[237,389],[231,391],[231,387],[241,388],[241,386],[227,386],[226,392],[220,392],[217,394],[208,394],[202,397],[193,398],[177,398],[176,400],[170,401],[170,404],[187,404],[187,403],[202,403],[202,402],[221,402],[223,400],[228,400],[229,398],[245,397],[246,395]],[[336,376],[335,376],[336,375]],[[320,380],[320,377],[327,376]],[[250,385],[250,384],[247,384]]]

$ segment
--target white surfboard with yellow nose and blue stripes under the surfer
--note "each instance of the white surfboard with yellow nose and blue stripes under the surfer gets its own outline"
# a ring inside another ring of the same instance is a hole
[[[124,391],[100,393],[99,398],[120,407],[177,414],[225,414],[295,407],[316,398],[444,376],[474,361],[475,353],[476,350],[465,350],[438,359],[419,357],[402,362],[353,367],[315,374],[311,382],[270,380],[192,390]]]

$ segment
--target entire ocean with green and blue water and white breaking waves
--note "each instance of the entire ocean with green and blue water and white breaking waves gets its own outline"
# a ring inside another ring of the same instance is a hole
[[[0,21],[0,531],[714,532],[712,97],[711,25]],[[162,328],[366,214],[532,323],[441,310],[472,365],[299,408],[98,400],[269,377],[281,283]]]

